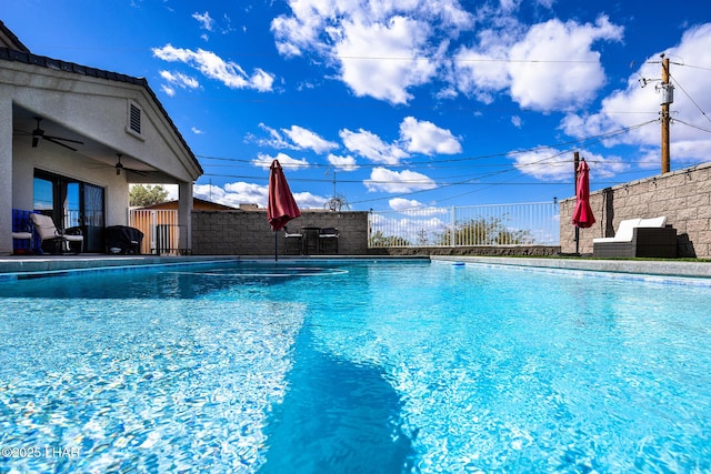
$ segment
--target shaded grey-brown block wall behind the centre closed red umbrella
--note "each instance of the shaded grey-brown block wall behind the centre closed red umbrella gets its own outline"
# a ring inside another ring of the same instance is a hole
[[[289,222],[287,228],[299,231],[301,226],[337,228],[340,232],[339,254],[368,254],[368,212],[301,211],[301,216]],[[280,231],[277,236],[280,255],[283,240],[283,231]],[[273,255],[274,233],[269,228],[267,211],[193,212],[192,254]]]

